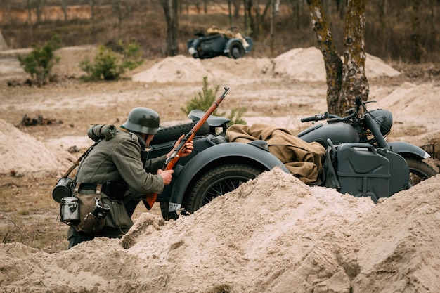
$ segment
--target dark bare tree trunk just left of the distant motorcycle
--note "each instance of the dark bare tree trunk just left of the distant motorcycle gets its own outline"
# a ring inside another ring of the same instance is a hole
[[[167,22],[167,56],[176,56],[179,54],[177,0],[160,0],[160,4],[164,8],[165,20]]]

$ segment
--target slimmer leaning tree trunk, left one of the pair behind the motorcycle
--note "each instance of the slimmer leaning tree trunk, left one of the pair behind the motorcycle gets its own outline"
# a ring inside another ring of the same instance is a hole
[[[332,33],[328,30],[325,14],[321,5],[321,0],[307,0],[311,13],[313,30],[316,32],[318,46],[323,53],[325,72],[327,74],[327,107],[328,111],[335,112],[339,91],[342,88],[342,60],[336,51]]]

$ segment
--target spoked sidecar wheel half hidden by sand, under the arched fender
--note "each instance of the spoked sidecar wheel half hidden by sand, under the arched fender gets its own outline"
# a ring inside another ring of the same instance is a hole
[[[261,174],[261,170],[247,164],[225,164],[210,169],[193,185],[187,210],[192,214],[215,197],[235,190],[242,183]]]

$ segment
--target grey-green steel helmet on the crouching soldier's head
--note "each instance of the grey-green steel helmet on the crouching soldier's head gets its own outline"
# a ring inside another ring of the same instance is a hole
[[[122,126],[140,134],[157,134],[159,114],[150,108],[137,107],[130,111],[127,121]]]

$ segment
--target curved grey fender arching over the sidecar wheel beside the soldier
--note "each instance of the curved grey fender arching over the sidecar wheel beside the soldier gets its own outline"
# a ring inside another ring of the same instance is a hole
[[[284,164],[271,152],[254,143],[221,143],[207,148],[196,155],[183,169],[173,185],[172,195],[169,199],[168,211],[177,211],[181,208],[183,197],[188,185],[203,174],[206,169],[216,167],[229,162],[248,162],[267,171],[280,167],[286,173],[290,173]]]

